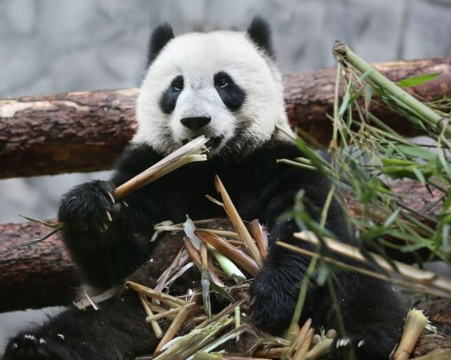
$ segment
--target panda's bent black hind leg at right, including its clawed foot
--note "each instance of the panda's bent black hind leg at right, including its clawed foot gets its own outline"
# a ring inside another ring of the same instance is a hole
[[[331,348],[334,359],[388,359],[401,337],[407,308],[387,282],[357,273],[339,273],[331,311],[324,323],[338,335]],[[339,317],[337,308],[339,307]]]

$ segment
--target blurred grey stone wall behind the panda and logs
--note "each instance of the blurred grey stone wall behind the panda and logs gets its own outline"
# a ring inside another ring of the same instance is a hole
[[[255,14],[271,23],[283,72],[335,65],[335,39],[371,62],[451,55],[451,0],[0,0],[0,98],[136,87],[154,26],[244,30]],[[0,180],[0,223],[54,218],[64,191],[99,177]],[[0,315],[0,354],[37,317]]]

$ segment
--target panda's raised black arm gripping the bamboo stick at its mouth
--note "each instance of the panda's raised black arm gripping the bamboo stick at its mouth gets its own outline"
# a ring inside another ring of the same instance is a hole
[[[164,189],[137,191],[117,204],[112,193],[160,159],[149,147],[130,147],[118,160],[111,181],[92,180],[63,195],[59,206],[63,240],[87,284],[99,288],[119,284],[151,252],[153,226],[165,219],[157,205]]]

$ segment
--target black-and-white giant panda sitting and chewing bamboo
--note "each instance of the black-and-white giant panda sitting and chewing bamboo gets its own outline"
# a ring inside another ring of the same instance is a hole
[[[303,189],[308,211],[319,218],[329,184],[318,172],[276,163],[302,154],[275,131],[275,125],[289,130],[289,123],[269,25],[255,18],[246,32],[178,37],[170,25],[160,25],[151,34],[148,61],[136,104],[138,130],[114,176],[78,185],[61,199],[65,246],[88,286],[116,286],[149,266],[156,246],[164,246],[150,241],[154,224],[183,222],[187,214],[194,220],[223,217],[222,209],[204,197],[215,193],[218,175],[242,218],[258,218],[269,229],[269,255],[251,287],[250,318],[281,334],[293,316],[309,263],[274,244],[283,240],[303,246],[292,237],[298,230],[295,221],[281,215],[293,208]],[[208,161],[186,165],[113,204],[110,194],[119,184],[200,135],[210,139]],[[335,202],[326,227],[352,242]],[[321,286],[308,289],[302,320],[311,317],[315,326],[339,330],[331,348],[334,359],[346,358],[349,349],[357,359],[388,359],[403,323],[394,290],[357,273],[337,278],[343,324]],[[147,285],[155,284],[147,279]],[[99,311],[70,308],[23,330],[10,340],[3,359],[134,359],[151,352],[158,341],[136,295],[129,292],[122,300],[105,301]]]

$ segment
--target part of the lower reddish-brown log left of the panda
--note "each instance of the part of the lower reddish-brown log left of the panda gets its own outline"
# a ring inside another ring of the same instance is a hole
[[[78,275],[58,235],[18,247],[49,229],[36,222],[0,225],[0,313],[70,304]]]

